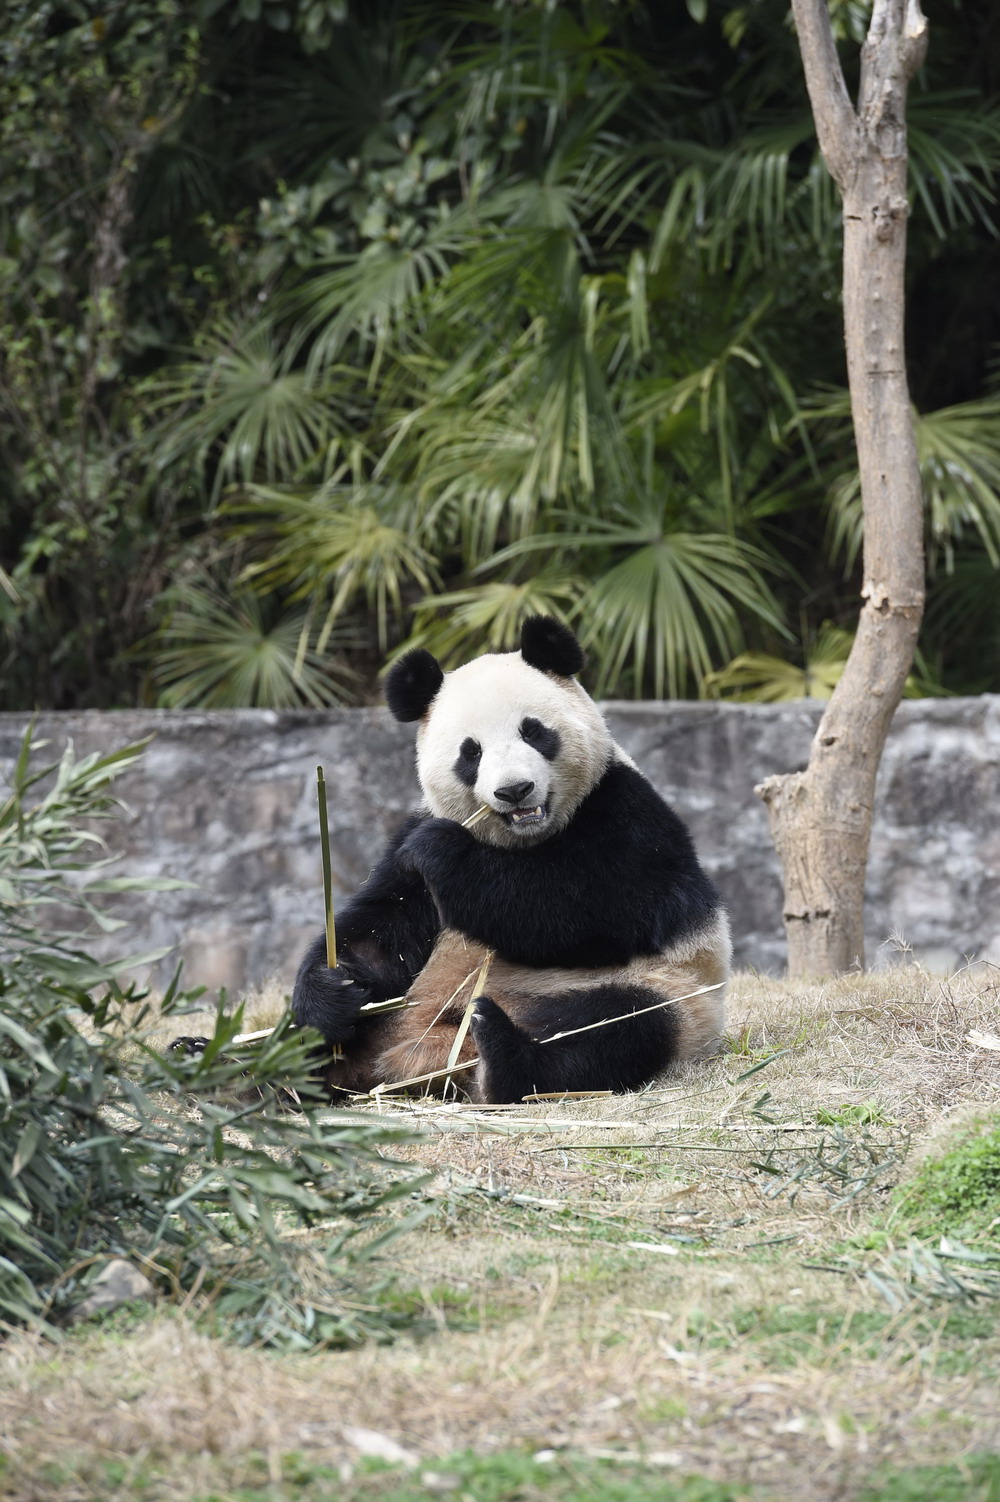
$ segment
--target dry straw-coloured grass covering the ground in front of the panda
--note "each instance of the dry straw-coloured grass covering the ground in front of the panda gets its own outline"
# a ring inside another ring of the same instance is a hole
[[[823,985],[740,976],[730,1051],[655,1090],[383,1107],[428,1133],[408,1154],[434,1170],[440,1215],[392,1260],[437,1332],[312,1358],[234,1350],[170,1311],[59,1352],[15,1337],[0,1355],[11,1496],[69,1502],[86,1487],[39,1488],[44,1460],[72,1472],[111,1455],[171,1457],[170,1497],[198,1494],[209,1472],[218,1484],[218,1466],[239,1484],[249,1452],[278,1479],[287,1451],[356,1458],[345,1425],[420,1457],[670,1452],[796,1499],[850,1497],[875,1461],[1000,1448],[1000,1338],[985,1316],[892,1319],[866,1284],[817,1266],[877,1221],[905,1154],[995,1107],[1000,1054],[968,1033],[1000,1030],[998,987],[988,966]],[[275,1002],[255,997],[245,1026],[266,1026]],[[176,1021],[171,1035],[203,1030]],[[889,1170],[847,1200],[823,1181],[769,1194],[830,1139],[817,1116],[851,1105],[871,1120],[847,1137]],[[754,1167],[767,1154],[778,1175]],[[449,1323],[449,1301],[473,1331]]]

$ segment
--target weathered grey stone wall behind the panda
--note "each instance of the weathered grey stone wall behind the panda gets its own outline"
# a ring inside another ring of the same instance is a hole
[[[754,783],[805,765],[820,706],[611,703],[613,734],[688,822],[733,918],[737,960],[784,964],[781,880]],[[27,716],[0,715],[0,775]],[[119,783],[119,874],[197,891],[129,895],[129,948],[176,945],[185,976],[237,990],[288,984],[321,927],[315,766],[329,784],[338,894],[368,874],[414,807],[413,728],[383,709],[42,713],[45,756],[153,736]],[[898,934],[935,967],[1000,963],[1000,697],[904,703],[886,746],[872,832],[868,963]],[[120,936],[111,940],[120,948]],[[99,943],[95,943],[99,948]],[[170,961],[162,961],[161,978]]]

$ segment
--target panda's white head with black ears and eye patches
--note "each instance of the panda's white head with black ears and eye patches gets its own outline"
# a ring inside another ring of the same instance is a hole
[[[420,721],[417,774],[431,813],[461,823],[486,805],[471,832],[495,846],[563,829],[616,754],[574,679],[581,667],[575,635],[548,616],[524,622],[520,652],[452,673],[420,647],[399,658],[386,698],[396,719]]]

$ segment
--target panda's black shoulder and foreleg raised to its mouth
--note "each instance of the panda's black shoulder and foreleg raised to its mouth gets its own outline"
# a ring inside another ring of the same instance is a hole
[[[628,964],[703,930],[719,907],[683,822],[625,763],[538,844],[498,849],[426,819],[396,861],[431,888],[444,927],[527,966]]]

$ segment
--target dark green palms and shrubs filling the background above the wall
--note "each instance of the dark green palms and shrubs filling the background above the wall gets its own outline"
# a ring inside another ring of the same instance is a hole
[[[997,691],[1000,17],[928,15],[911,689]],[[602,694],[829,692],[838,216],[785,0],[8,0],[2,706],[365,701],[538,610]]]

